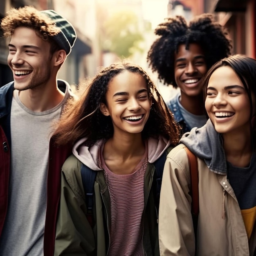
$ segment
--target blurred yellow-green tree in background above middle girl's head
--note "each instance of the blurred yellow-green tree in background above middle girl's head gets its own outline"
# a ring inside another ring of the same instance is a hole
[[[138,18],[132,11],[116,12],[101,26],[101,49],[105,52],[114,52],[119,57],[128,58],[135,51],[142,52],[139,43],[143,40]]]

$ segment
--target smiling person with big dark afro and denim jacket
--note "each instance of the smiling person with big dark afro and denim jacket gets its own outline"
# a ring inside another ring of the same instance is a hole
[[[155,34],[158,38],[147,61],[160,81],[180,88],[166,104],[183,134],[206,123],[200,81],[214,63],[230,55],[231,40],[225,27],[209,13],[195,16],[189,24],[182,16],[166,18]]]

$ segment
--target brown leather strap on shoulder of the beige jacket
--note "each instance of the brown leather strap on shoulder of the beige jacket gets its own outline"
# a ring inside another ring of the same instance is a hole
[[[198,216],[199,213],[199,195],[198,195],[198,162],[195,155],[187,148],[184,147],[189,159],[189,169],[191,177],[191,190],[192,190],[192,206],[191,212]]]

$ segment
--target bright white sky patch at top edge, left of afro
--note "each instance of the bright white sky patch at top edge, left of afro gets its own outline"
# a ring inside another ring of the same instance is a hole
[[[150,20],[154,29],[167,17],[168,0],[142,0],[144,18]]]

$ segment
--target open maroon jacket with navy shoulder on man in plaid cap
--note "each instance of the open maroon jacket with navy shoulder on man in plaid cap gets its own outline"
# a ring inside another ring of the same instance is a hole
[[[65,83],[58,81],[58,86]],[[59,86],[60,87],[60,86]],[[8,207],[8,188],[11,160],[10,115],[13,82],[0,88],[0,236]],[[61,167],[72,153],[72,145],[57,147],[52,138],[49,143],[49,168],[47,178],[47,209],[45,219],[44,255],[54,254],[56,220],[61,195]]]

